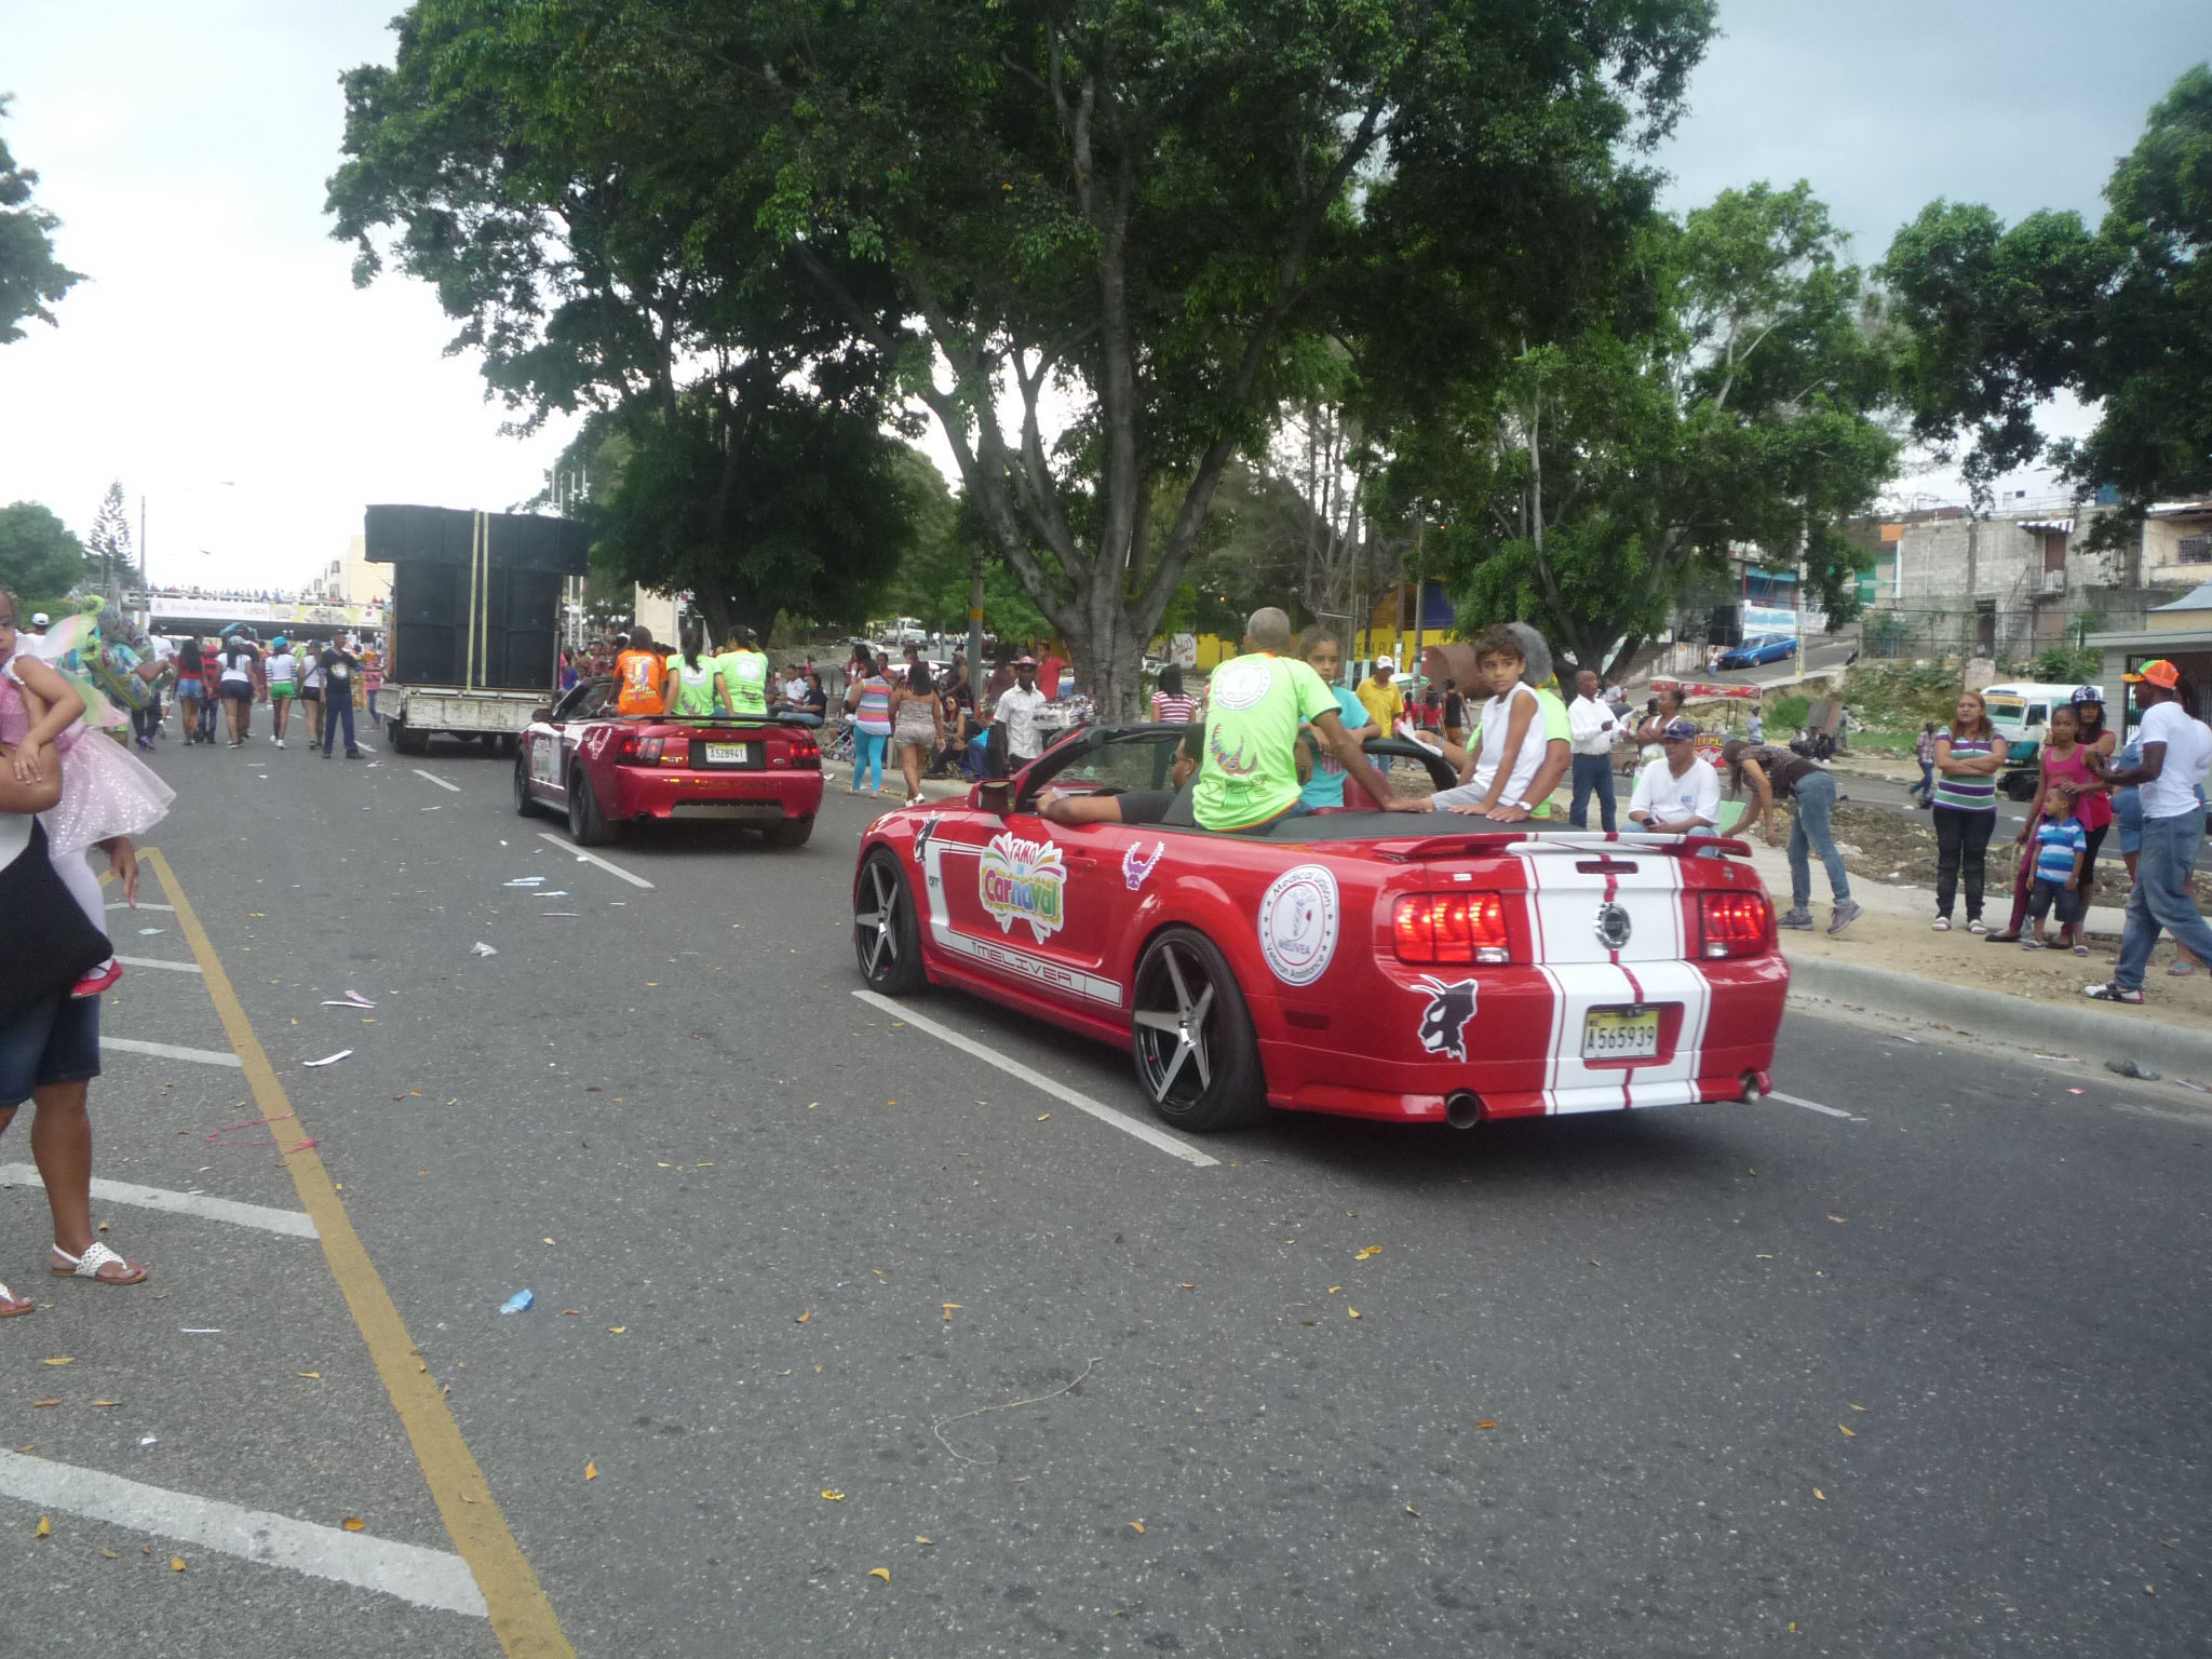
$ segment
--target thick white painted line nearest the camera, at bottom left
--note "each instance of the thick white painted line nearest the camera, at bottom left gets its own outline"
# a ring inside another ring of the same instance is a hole
[[[0,1451],[0,1495],[20,1498],[64,1515],[113,1522],[135,1533],[268,1562],[334,1584],[396,1595],[418,1608],[489,1617],[469,1564],[447,1551],[400,1544],[367,1533],[292,1520],[265,1509],[241,1509],[219,1498],[144,1486],[100,1469]]]

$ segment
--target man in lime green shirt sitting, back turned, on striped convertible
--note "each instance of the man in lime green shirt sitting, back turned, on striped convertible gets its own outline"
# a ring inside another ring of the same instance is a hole
[[[1411,812],[1360,750],[1336,712],[1336,697],[1290,650],[1290,617],[1265,606],[1245,622],[1243,655],[1214,668],[1208,684],[1206,754],[1190,790],[1203,830],[1259,830],[1298,810],[1298,728],[1343,761],[1385,810]]]

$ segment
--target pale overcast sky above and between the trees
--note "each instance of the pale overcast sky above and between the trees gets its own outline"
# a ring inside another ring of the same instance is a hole
[[[500,509],[566,429],[502,436],[429,290],[356,290],[327,237],[338,71],[400,0],[0,0],[0,133],[82,283],[0,347],[0,502],[80,533],[119,478],[155,580],[296,584],[367,502]],[[2205,0],[1723,0],[1661,153],[1670,206],[1812,179],[1856,257],[1931,197],[2095,215],[2150,104],[2212,58]],[[1942,493],[1942,478],[1909,487]]]

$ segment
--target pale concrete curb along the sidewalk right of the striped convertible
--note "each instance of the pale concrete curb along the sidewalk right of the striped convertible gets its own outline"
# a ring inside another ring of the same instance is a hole
[[[2068,1009],[1814,956],[1790,958],[1790,991],[1849,1002],[1891,1020],[1944,1024],[2028,1053],[2077,1048],[2081,1060],[2097,1064],[2132,1057],[2168,1077],[2179,1073],[2212,1084],[2212,1031],[2101,1009],[2086,998],[2079,1009]]]

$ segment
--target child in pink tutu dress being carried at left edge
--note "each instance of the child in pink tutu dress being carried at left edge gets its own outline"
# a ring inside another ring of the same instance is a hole
[[[38,748],[62,757],[62,801],[42,814],[53,872],[106,933],[106,902],[86,852],[119,836],[142,836],[168,816],[177,799],[131,750],[84,723],[84,697],[51,664],[15,648],[15,599],[0,593],[0,743],[15,750],[20,781],[38,776]],[[113,956],[88,971],[71,995],[97,995],[124,973]]]

